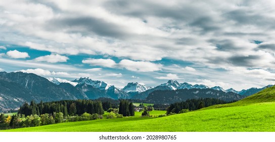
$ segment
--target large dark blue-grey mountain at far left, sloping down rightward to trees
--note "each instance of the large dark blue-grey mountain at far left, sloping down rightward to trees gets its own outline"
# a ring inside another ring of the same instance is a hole
[[[24,101],[77,99],[65,89],[35,74],[0,72],[1,110],[15,109]]]

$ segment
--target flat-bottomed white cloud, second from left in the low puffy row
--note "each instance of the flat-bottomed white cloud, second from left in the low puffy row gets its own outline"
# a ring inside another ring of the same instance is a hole
[[[59,54],[51,54],[51,55],[46,55],[46,56],[41,56],[33,59],[34,61],[45,61],[45,62],[50,62],[50,63],[57,63],[57,62],[67,62],[69,58],[66,56],[62,56]]]

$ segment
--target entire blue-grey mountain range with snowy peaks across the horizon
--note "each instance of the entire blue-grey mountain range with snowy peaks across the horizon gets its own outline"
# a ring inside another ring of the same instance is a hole
[[[266,87],[270,86],[272,85]],[[186,82],[178,83],[177,81],[169,80],[167,83],[160,84],[156,87],[139,83],[128,83],[120,89],[107,82],[94,81],[89,78],[79,78],[68,81],[59,78],[46,79],[35,74],[22,72],[0,72],[0,112],[18,108],[23,102],[30,102],[31,100],[38,102],[40,100],[122,98],[166,103],[186,99],[185,95],[182,94],[190,94],[189,98],[205,97],[206,94],[209,94],[206,96],[231,101],[257,93],[266,87],[236,91],[232,88],[224,90],[219,86],[209,88],[203,84],[193,86]],[[194,95],[195,90],[200,93],[195,93],[196,95]],[[180,92],[179,94],[181,95],[174,93],[174,91]],[[169,97],[163,95],[163,92],[168,93],[166,95],[169,95]],[[221,94],[224,97],[220,97],[219,95]],[[166,101],[168,98],[170,101]]]

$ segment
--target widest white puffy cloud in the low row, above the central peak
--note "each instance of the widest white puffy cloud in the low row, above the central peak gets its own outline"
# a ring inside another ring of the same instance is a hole
[[[123,59],[118,63],[119,66],[135,72],[155,72],[161,70],[162,64],[145,61],[132,61]]]

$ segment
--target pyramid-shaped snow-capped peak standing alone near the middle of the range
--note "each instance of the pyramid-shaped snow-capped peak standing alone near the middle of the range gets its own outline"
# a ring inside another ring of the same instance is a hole
[[[146,90],[152,89],[152,87],[150,86],[146,86],[146,85],[141,85],[139,83],[128,83],[122,90],[125,92],[144,92]]]

